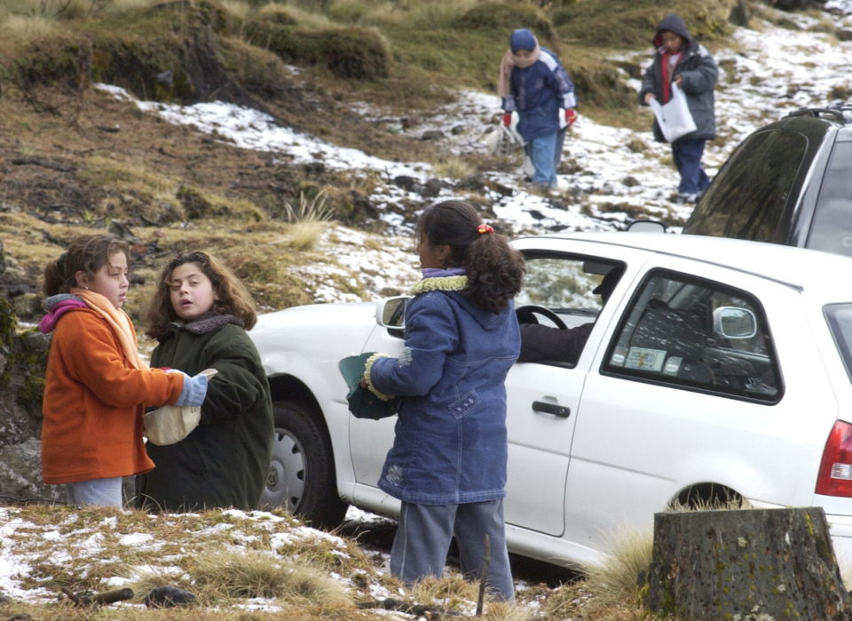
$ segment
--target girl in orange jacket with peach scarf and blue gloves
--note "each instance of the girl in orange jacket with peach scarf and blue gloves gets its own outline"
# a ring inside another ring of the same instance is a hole
[[[44,269],[53,332],[43,397],[42,476],[76,506],[122,506],[122,477],[154,467],[142,439],[145,406],[201,405],[207,378],[149,369],[122,307],[130,247],[83,235]]]

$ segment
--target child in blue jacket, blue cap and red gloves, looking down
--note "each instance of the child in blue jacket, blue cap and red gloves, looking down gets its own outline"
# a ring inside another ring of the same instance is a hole
[[[526,28],[518,28],[509,37],[509,50],[500,62],[497,94],[507,127],[517,110],[517,131],[535,169],[533,184],[556,187],[565,131],[577,120],[577,97],[562,62],[555,53],[540,47]],[[564,115],[564,123],[560,115]]]

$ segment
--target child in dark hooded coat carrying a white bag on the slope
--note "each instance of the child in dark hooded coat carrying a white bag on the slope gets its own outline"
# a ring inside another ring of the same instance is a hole
[[[659,22],[653,41],[657,53],[642,78],[639,100],[649,105],[652,99],[665,104],[672,98],[672,84],[686,95],[696,130],[672,142],[672,159],[681,176],[675,200],[694,203],[710,183],[701,167],[706,141],[716,136],[714,86],[719,69],[710,52],[697,44],[679,15],[667,15]],[[665,142],[657,119],[654,138]]]

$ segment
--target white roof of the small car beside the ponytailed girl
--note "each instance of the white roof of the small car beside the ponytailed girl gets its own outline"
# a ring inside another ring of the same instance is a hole
[[[708,235],[627,231],[535,235],[518,238],[517,245],[523,250],[531,250],[535,247],[535,240],[543,239],[570,239],[670,254],[730,267],[797,288],[807,285],[809,288],[820,286],[852,291],[852,257],[832,252]],[[602,253],[605,255],[603,249]],[[838,275],[843,277],[838,278]]]

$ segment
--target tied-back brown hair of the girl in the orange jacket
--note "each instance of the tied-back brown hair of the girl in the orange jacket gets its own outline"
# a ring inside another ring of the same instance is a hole
[[[120,237],[105,233],[75,237],[67,251],[44,267],[44,295],[71,291],[77,286],[77,272],[93,278],[115,252],[123,252],[130,264],[130,245]]]

